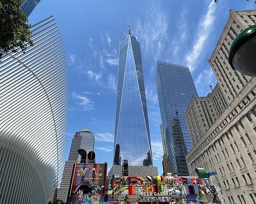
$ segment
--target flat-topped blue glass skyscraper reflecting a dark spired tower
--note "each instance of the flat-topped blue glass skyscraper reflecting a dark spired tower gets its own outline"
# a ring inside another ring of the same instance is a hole
[[[157,62],[157,93],[169,172],[189,175],[186,154],[192,148],[184,114],[198,96],[188,67]]]

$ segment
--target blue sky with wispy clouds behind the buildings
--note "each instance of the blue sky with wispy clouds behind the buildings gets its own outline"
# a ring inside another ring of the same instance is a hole
[[[256,9],[246,0],[41,0],[29,23],[53,15],[66,50],[69,112],[66,160],[74,134],[95,135],[96,162],[113,164],[119,43],[131,33],[141,45],[153,164],[162,174],[157,60],[188,66],[199,96],[217,81],[208,65],[229,9]]]

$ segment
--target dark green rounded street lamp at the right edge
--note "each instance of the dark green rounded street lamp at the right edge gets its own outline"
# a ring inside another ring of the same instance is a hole
[[[233,40],[228,62],[233,69],[256,77],[256,24],[242,31]]]

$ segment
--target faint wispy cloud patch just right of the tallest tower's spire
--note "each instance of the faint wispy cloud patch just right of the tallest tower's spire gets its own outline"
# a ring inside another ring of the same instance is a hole
[[[147,9],[147,12],[148,19],[138,19],[135,33],[138,35],[137,38],[141,42],[143,51],[154,55],[156,60],[167,40],[167,15],[160,6],[156,6],[154,3],[151,8]]]

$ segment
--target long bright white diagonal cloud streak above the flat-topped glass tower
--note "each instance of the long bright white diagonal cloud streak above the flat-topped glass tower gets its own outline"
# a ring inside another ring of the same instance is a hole
[[[206,39],[211,33],[212,23],[215,19],[215,10],[216,4],[214,1],[211,1],[209,6],[207,7],[207,13],[202,17],[202,20],[198,27],[198,35],[196,41],[194,42],[192,50],[186,55],[187,66],[190,68],[190,71],[195,69],[195,65],[201,58],[202,51],[204,48],[204,44]]]

